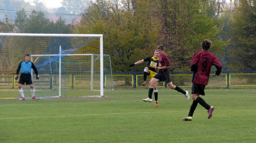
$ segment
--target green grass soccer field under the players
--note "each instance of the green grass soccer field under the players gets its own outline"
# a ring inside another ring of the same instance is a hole
[[[182,118],[193,100],[176,90],[159,90],[156,107],[142,101],[147,92],[105,91],[102,98],[0,99],[0,142],[256,140],[255,89],[206,89],[202,98],[216,107],[212,117],[208,119],[207,110],[198,104],[191,122]]]

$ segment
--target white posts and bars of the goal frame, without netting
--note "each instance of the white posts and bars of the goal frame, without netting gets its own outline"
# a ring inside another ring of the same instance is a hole
[[[102,34],[31,34],[31,33],[0,33],[0,36],[27,36],[27,37],[98,37],[100,39],[100,96],[104,97],[103,93],[103,35]],[[60,54],[59,56],[62,56],[61,54],[61,46],[59,48]],[[72,56],[72,54],[66,54]],[[78,54],[74,54],[78,55]],[[83,55],[83,54],[81,54]],[[92,54],[84,54],[84,55],[92,55]],[[32,56],[39,56],[39,55],[31,55]],[[47,56],[47,55],[44,55]],[[50,56],[50,55],[48,55]],[[53,55],[51,55],[53,56]],[[55,55],[56,56],[56,55]],[[60,58],[61,59],[61,58]],[[59,69],[60,70],[60,69]],[[61,72],[60,72],[61,76]],[[60,80],[60,78],[59,78]],[[61,86],[61,85],[59,85]],[[59,87],[61,88],[61,87]],[[61,90],[59,90],[59,96]]]

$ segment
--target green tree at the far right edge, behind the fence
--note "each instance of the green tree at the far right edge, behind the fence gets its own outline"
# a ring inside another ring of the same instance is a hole
[[[229,26],[229,69],[256,70],[256,1],[234,1]]]

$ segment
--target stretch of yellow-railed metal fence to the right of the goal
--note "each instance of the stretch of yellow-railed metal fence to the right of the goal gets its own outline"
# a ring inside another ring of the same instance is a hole
[[[105,74],[105,78],[110,75]],[[143,73],[113,73],[114,89],[115,88],[148,88],[141,85],[143,83]],[[171,72],[170,79],[174,85],[180,87],[192,86],[193,72]],[[147,79],[148,82],[150,79]],[[207,87],[214,88],[256,88],[256,71],[222,71],[220,76],[214,72],[210,74]],[[167,88],[165,82],[159,82],[158,88]]]

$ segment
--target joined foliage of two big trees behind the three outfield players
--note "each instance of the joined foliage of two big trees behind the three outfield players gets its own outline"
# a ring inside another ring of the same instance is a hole
[[[103,34],[104,53],[111,56],[114,71],[129,71],[129,64],[153,55],[158,44],[166,47],[170,70],[189,71],[203,39],[212,40],[214,53],[227,45],[218,37],[223,27],[215,13],[219,8],[216,1],[98,0],[73,32]]]

